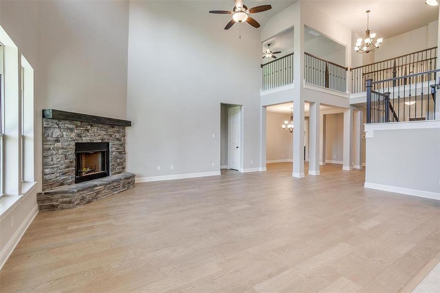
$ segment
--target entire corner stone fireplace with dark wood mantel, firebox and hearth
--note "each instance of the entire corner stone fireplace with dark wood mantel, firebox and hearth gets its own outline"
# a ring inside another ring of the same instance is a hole
[[[71,209],[134,187],[126,172],[130,121],[43,110],[40,210]]]

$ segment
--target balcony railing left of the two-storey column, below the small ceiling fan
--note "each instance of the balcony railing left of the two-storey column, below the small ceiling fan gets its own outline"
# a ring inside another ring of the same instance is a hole
[[[293,84],[293,53],[275,59],[263,68],[263,90]]]

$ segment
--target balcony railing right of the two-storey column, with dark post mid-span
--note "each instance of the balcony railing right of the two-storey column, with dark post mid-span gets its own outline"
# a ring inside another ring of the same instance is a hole
[[[304,53],[304,82],[346,91],[347,67]]]

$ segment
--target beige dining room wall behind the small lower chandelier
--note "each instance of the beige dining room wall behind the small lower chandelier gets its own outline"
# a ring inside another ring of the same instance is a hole
[[[266,114],[266,160],[292,160],[293,134],[283,130],[281,126],[290,115],[267,112]]]

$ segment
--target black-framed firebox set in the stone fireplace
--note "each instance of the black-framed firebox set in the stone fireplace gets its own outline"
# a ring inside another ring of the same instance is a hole
[[[108,143],[75,143],[75,183],[110,175]]]

